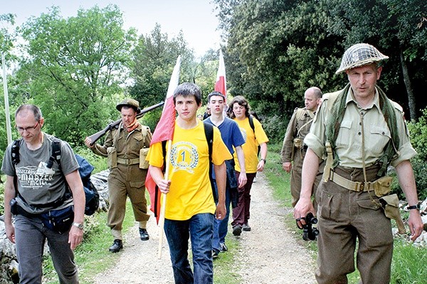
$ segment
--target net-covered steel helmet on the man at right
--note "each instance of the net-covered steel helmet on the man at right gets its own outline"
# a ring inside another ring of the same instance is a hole
[[[342,56],[341,65],[339,65],[335,74],[339,74],[354,67],[379,62],[387,58],[389,57],[380,53],[373,45],[357,43],[345,50],[345,53]]]

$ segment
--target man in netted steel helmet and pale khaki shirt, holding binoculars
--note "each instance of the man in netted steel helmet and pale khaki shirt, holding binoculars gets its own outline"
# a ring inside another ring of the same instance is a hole
[[[337,74],[349,80],[344,89],[325,94],[304,143],[302,190],[294,210],[299,225],[308,212],[315,213],[310,195],[320,159],[325,169],[317,187],[317,283],[347,283],[354,271],[354,251],[362,283],[389,283],[393,234],[391,220],[401,222],[399,200],[390,195],[389,165],[396,168],[408,202],[411,239],[423,230],[410,159],[416,151],[409,141],[404,114],[377,86],[388,58],[374,46],[350,47]],[[339,261],[337,262],[337,259]]]

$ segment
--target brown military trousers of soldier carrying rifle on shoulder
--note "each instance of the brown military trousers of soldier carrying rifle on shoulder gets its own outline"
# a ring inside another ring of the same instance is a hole
[[[148,221],[147,198],[145,197],[145,178],[147,170],[139,165],[121,165],[110,169],[108,175],[108,209],[107,226],[116,231],[122,230],[126,212],[126,199],[130,198],[132,210],[137,222]]]

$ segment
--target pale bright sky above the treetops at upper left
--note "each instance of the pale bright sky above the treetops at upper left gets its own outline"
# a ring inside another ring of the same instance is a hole
[[[123,12],[125,28],[137,28],[138,34],[146,35],[155,23],[162,27],[162,33],[169,38],[184,32],[184,38],[196,56],[204,55],[209,48],[218,49],[218,20],[214,4],[210,0],[1,0],[1,13],[16,14],[16,23],[21,25],[30,16],[48,13],[51,6],[59,6],[63,18],[77,16],[79,8],[90,9],[97,5],[101,9],[116,4]]]

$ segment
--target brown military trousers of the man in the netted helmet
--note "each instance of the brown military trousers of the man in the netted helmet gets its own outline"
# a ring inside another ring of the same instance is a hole
[[[335,172],[348,180],[364,181],[362,169],[337,167]],[[367,168],[367,181],[376,180],[376,173],[378,167]],[[322,180],[316,198],[320,231],[317,283],[347,283],[347,274],[354,271],[357,240],[357,268],[362,283],[389,283],[393,254],[391,221],[374,192],[354,192]]]

